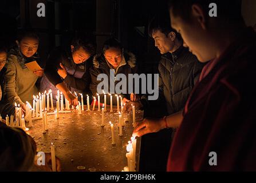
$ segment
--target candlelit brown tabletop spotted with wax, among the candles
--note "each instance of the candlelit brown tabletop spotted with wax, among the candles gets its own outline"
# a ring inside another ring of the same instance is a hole
[[[126,146],[132,136],[132,113],[124,113],[125,126],[123,136],[119,136],[119,114],[104,113],[105,126],[101,127],[101,112],[95,109],[89,112],[84,110],[79,115],[76,110],[72,113],[59,113],[48,116],[48,128],[42,133],[42,120],[33,121],[33,127],[27,131],[37,143],[38,152],[50,152],[53,142],[56,156],[61,160],[62,171],[97,171],[120,172],[127,166]],[[136,110],[136,121],[143,120],[143,111]],[[111,126],[114,124],[116,145],[112,145]],[[137,138],[136,162],[139,165],[140,138]],[[77,166],[84,166],[78,170]],[[136,168],[138,169],[138,167]],[[40,171],[36,166],[32,171]]]

